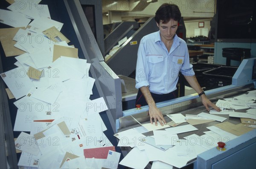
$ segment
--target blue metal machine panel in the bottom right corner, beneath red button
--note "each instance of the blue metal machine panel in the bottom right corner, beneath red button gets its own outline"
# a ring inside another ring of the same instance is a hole
[[[226,151],[209,149],[197,157],[196,169],[255,169],[256,130],[229,141]]]

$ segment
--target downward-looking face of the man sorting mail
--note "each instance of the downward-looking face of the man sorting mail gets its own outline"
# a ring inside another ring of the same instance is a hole
[[[159,24],[157,23],[157,26],[160,30],[160,36],[163,41],[172,40],[178,28],[178,21],[171,19],[168,23],[163,23],[163,20],[160,20]]]

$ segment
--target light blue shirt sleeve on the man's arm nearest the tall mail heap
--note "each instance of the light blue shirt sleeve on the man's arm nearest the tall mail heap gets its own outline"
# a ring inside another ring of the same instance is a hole
[[[136,65],[136,85],[139,89],[143,86],[149,86],[148,82],[148,64],[145,56],[145,42],[144,38],[141,39],[138,53],[137,53],[137,65]]]

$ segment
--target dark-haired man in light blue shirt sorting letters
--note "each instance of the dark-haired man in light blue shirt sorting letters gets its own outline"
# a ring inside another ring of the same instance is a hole
[[[181,14],[178,6],[164,3],[156,12],[155,20],[159,31],[143,37],[138,49],[136,66],[136,88],[140,89],[136,104],[149,107],[151,124],[157,120],[166,124],[156,102],[175,98],[178,75],[181,72],[189,85],[200,96],[202,103],[215,110],[220,109],[204,94],[189,63],[189,51],[186,42],[177,37],[176,31]]]

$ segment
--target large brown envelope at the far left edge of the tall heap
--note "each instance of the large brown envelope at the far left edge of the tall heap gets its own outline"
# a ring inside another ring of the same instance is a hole
[[[20,27],[20,28],[25,29],[25,27]],[[3,51],[6,54],[6,57],[17,56],[17,55],[26,53],[25,51],[22,51],[14,47],[16,41],[12,40],[20,28],[1,28],[0,29],[0,42],[3,46]]]

